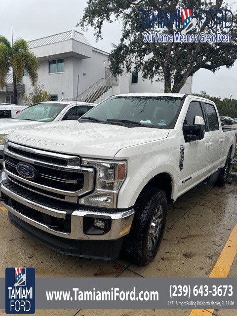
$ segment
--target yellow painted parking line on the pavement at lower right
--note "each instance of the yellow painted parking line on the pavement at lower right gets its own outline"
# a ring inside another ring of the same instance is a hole
[[[229,236],[209,277],[227,277],[237,254],[237,224]],[[214,310],[192,310],[189,316],[211,316]]]

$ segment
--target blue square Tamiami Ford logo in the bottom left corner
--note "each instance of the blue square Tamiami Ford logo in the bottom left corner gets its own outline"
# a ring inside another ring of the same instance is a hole
[[[5,312],[6,314],[35,313],[34,268],[6,268]]]

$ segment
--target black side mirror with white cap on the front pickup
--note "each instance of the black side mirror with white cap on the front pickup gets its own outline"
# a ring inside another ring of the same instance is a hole
[[[194,125],[184,124],[184,136],[186,142],[201,140],[205,135],[205,121],[202,117],[196,116],[194,118]]]

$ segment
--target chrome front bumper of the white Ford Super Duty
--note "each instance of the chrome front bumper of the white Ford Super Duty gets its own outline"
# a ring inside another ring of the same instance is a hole
[[[9,190],[4,186],[2,181],[6,178],[5,173],[2,172],[0,177],[0,191],[6,195],[7,197],[12,198],[13,200],[25,205],[26,207],[31,207],[39,212],[54,216],[56,218],[66,218],[67,211],[59,211],[57,209],[35,203],[32,200],[28,200],[27,198],[23,198],[13,191]],[[120,237],[125,236],[129,233],[130,227],[132,224],[133,216],[134,216],[134,209],[129,210],[122,210],[117,212],[97,212],[97,211],[90,211],[87,210],[85,207],[83,208],[76,208],[71,215],[71,232],[59,232],[49,228],[46,224],[42,224],[37,222],[36,220],[20,213],[11,205],[8,205],[6,201],[3,201],[2,204],[7,208],[7,210],[18,217],[19,219],[23,220],[24,222],[44,231],[46,233],[50,233],[52,235],[58,237],[64,237],[69,239],[86,239],[86,240],[112,240],[118,239]],[[96,218],[109,218],[111,219],[111,229],[109,232],[105,233],[104,235],[87,235],[83,233],[83,218],[86,215],[95,215]]]

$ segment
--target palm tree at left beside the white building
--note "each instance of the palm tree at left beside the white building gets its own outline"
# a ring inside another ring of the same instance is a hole
[[[3,89],[6,77],[12,70],[15,104],[17,104],[17,84],[21,84],[24,70],[28,72],[32,85],[35,85],[38,80],[38,68],[38,58],[29,51],[26,40],[15,40],[11,45],[9,40],[0,36],[0,88]]]

